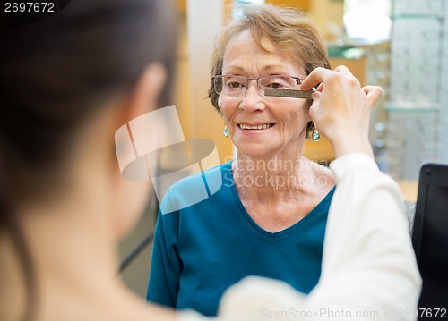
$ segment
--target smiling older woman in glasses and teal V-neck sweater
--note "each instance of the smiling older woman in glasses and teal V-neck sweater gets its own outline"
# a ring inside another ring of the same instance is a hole
[[[248,6],[220,34],[209,97],[237,158],[212,168],[220,190],[194,206],[159,215],[148,300],[216,314],[222,293],[261,275],[308,293],[319,280],[332,173],[302,153],[312,100],[267,97],[264,89],[300,89],[325,46],[306,15]],[[164,202],[178,203],[201,176],[178,182]],[[162,207],[164,205],[162,204]]]

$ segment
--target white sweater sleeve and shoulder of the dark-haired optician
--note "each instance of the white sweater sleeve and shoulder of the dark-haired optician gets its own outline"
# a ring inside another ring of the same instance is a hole
[[[248,277],[225,293],[224,320],[414,320],[421,278],[403,199],[375,161],[351,153],[331,164],[337,188],[325,233],[323,269],[308,296]]]

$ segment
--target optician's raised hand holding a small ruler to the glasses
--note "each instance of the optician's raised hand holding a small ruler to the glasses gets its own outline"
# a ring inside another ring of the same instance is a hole
[[[302,90],[313,94],[310,116],[317,131],[330,140],[336,157],[349,152],[373,156],[368,140],[370,111],[383,94],[377,86],[361,88],[359,81],[345,66],[334,71],[316,68],[302,82]]]

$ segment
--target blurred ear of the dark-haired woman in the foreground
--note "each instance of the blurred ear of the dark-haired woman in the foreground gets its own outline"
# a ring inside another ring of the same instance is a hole
[[[166,78],[167,71],[161,63],[151,63],[144,69],[127,101],[124,119],[119,124],[120,126],[157,108],[159,94],[165,85]]]

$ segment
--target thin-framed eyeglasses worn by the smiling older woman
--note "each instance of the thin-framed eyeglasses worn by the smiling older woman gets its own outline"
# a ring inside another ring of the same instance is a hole
[[[243,96],[249,86],[249,80],[255,80],[262,95],[264,89],[294,89],[303,79],[293,76],[271,75],[266,77],[248,78],[237,75],[218,75],[211,77],[213,87],[218,95],[227,97]]]

